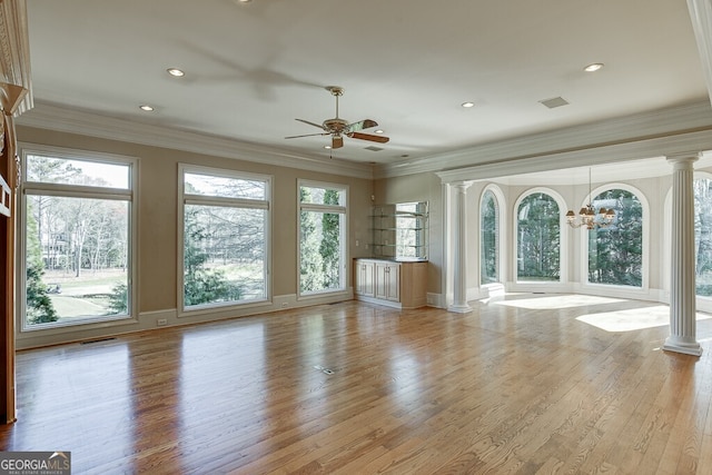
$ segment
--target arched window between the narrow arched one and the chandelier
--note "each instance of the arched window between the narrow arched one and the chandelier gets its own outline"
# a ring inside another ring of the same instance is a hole
[[[545,192],[533,192],[522,199],[517,208],[517,280],[560,280],[560,245],[556,200]]]

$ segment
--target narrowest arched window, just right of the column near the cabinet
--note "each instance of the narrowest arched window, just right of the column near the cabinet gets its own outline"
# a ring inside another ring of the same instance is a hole
[[[479,281],[500,281],[500,207],[492,190],[486,190],[479,205]]]

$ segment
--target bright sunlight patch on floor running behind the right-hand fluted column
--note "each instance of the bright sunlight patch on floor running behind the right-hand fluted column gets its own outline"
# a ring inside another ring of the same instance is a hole
[[[712,316],[703,314],[698,314],[696,316],[698,320],[708,318],[712,318]],[[604,311],[601,314],[582,315],[576,319],[606,331],[632,331],[670,325],[670,307],[660,305],[655,307]]]

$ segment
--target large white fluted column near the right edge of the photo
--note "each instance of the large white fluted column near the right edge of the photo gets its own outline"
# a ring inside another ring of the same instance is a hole
[[[672,176],[672,254],[670,279],[670,336],[663,349],[702,355],[696,342],[694,258],[695,156],[669,157]]]

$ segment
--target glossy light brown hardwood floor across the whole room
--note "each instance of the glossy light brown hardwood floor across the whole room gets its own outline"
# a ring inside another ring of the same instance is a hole
[[[630,329],[660,305],[473,305],[346,301],[21,352],[0,447],[70,451],[75,474],[712,473],[712,319],[695,358],[660,349],[665,326]]]

